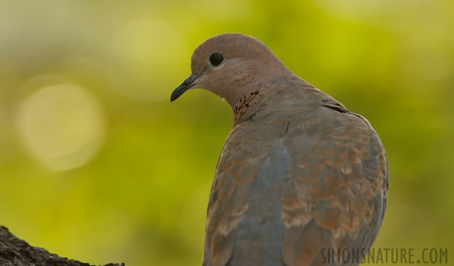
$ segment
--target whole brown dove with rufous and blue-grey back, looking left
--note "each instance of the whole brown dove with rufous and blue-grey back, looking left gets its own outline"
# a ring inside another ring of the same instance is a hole
[[[209,194],[202,266],[359,265],[389,187],[369,121],[239,33],[197,46],[171,102],[189,89],[211,91],[233,111]],[[349,258],[340,260],[345,249]]]

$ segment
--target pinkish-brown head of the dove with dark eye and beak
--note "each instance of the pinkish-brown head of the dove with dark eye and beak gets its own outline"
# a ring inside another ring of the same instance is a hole
[[[290,72],[260,40],[239,33],[213,36],[197,46],[191,75],[173,90],[170,101],[189,89],[206,89],[235,108],[247,93]],[[290,72],[291,73],[291,72]]]

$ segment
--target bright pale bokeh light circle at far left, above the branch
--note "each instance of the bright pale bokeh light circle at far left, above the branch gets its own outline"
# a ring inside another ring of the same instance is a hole
[[[18,112],[20,136],[52,170],[78,167],[92,159],[105,133],[98,100],[75,84],[57,84],[31,94]]]

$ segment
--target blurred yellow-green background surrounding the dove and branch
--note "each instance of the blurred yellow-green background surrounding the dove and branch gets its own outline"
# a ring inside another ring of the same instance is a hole
[[[0,224],[91,264],[200,265],[232,111],[207,91],[169,97],[224,32],[262,40],[379,133],[374,247],[448,248],[452,263],[451,0],[2,0]]]

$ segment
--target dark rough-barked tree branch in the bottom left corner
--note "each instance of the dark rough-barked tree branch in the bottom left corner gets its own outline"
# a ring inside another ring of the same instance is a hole
[[[27,242],[13,236],[6,227],[0,227],[0,265],[1,266],[92,266],[80,261],[68,260],[50,254],[44,248],[30,246]],[[105,266],[124,266],[109,263]]]

